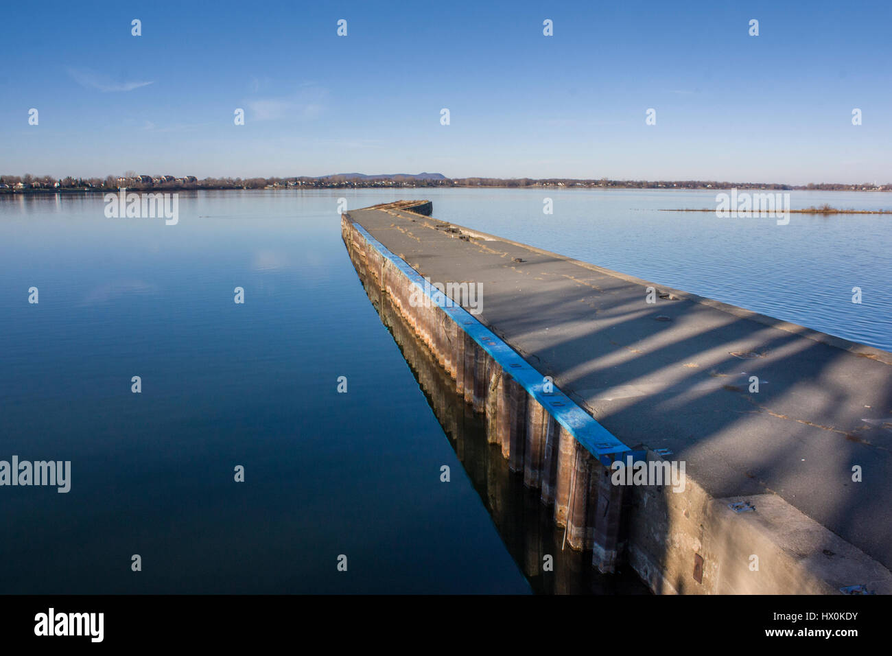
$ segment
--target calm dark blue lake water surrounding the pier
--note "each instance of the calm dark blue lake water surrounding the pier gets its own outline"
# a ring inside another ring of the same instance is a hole
[[[0,487],[0,592],[554,591],[524,577],[369,303],[342,196],[430,198],[443,220],[892,348],[884,216],[657,212],[714,207],[707,192],[333,190],[184,193],[165,226],[106,219],[100,195],[0,196],[0,460],[72,469],[68,494]]]

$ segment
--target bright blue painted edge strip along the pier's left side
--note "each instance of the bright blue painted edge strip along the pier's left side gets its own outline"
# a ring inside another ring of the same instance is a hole
[[[352,225],[365,237],[369,245],[389,260],[393,266],[409,278],[409,281],[421,287],[432,302],[436,303],[442,311],[450,315],[474,341],[480,345],[492,359],[498,362],[503,370],[508,372],[524,389],[538,401],[541,406],[554,417],[558,423],[574,436],[579,444],[595,456],[602,464],[610,467],[615,461],[613,456],[625,453],[637,461],[643,456],[643,452],[632,451],[632,448],[618,440],[607,428],[601,426],[588,412],[582,410],[569,396],[561,392],[557,386],[553,386],[553,392],[544,391],[544,377],[533,366],[525,361],[516,351],[503,342],[499,336],[486,328],[474,315],[463,307],[454,303],[439,289],[431,286],[425,289],[425,278],[412,269],[407,262],[394,255],[384,244],[372,237],[366,228],[363,228],[354,220],[349,219]]]

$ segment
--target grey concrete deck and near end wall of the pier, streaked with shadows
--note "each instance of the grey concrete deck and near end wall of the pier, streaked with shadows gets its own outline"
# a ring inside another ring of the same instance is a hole
[[[652,589],[892,592],[892,354],[430,213],[422,202],[348,212],[345,242],[359,225],[434,283],[479,284],[477,320],[648,461],[685,463],[682,494],[634,488],[622,501],[624,559]],[[467,374],[464,386],[468,398]],[[609,506],[593,472],[589,515]],[[588,532],[597,552],[599,525]]]

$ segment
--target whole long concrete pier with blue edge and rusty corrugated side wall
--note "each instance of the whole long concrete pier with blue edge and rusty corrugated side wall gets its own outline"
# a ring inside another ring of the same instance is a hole
[[[892,354],[431,213],[349,212],[344,243],[570,548],[658,593],[892,592]],[[412,303],[421,277],[482,312]],[[615,485],[626,458],[683,488]]]

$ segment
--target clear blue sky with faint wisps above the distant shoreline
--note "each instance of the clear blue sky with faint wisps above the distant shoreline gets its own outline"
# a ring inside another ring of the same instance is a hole
[[[0,173],[886,183],[890,25],[888,1],[11,3]]]

